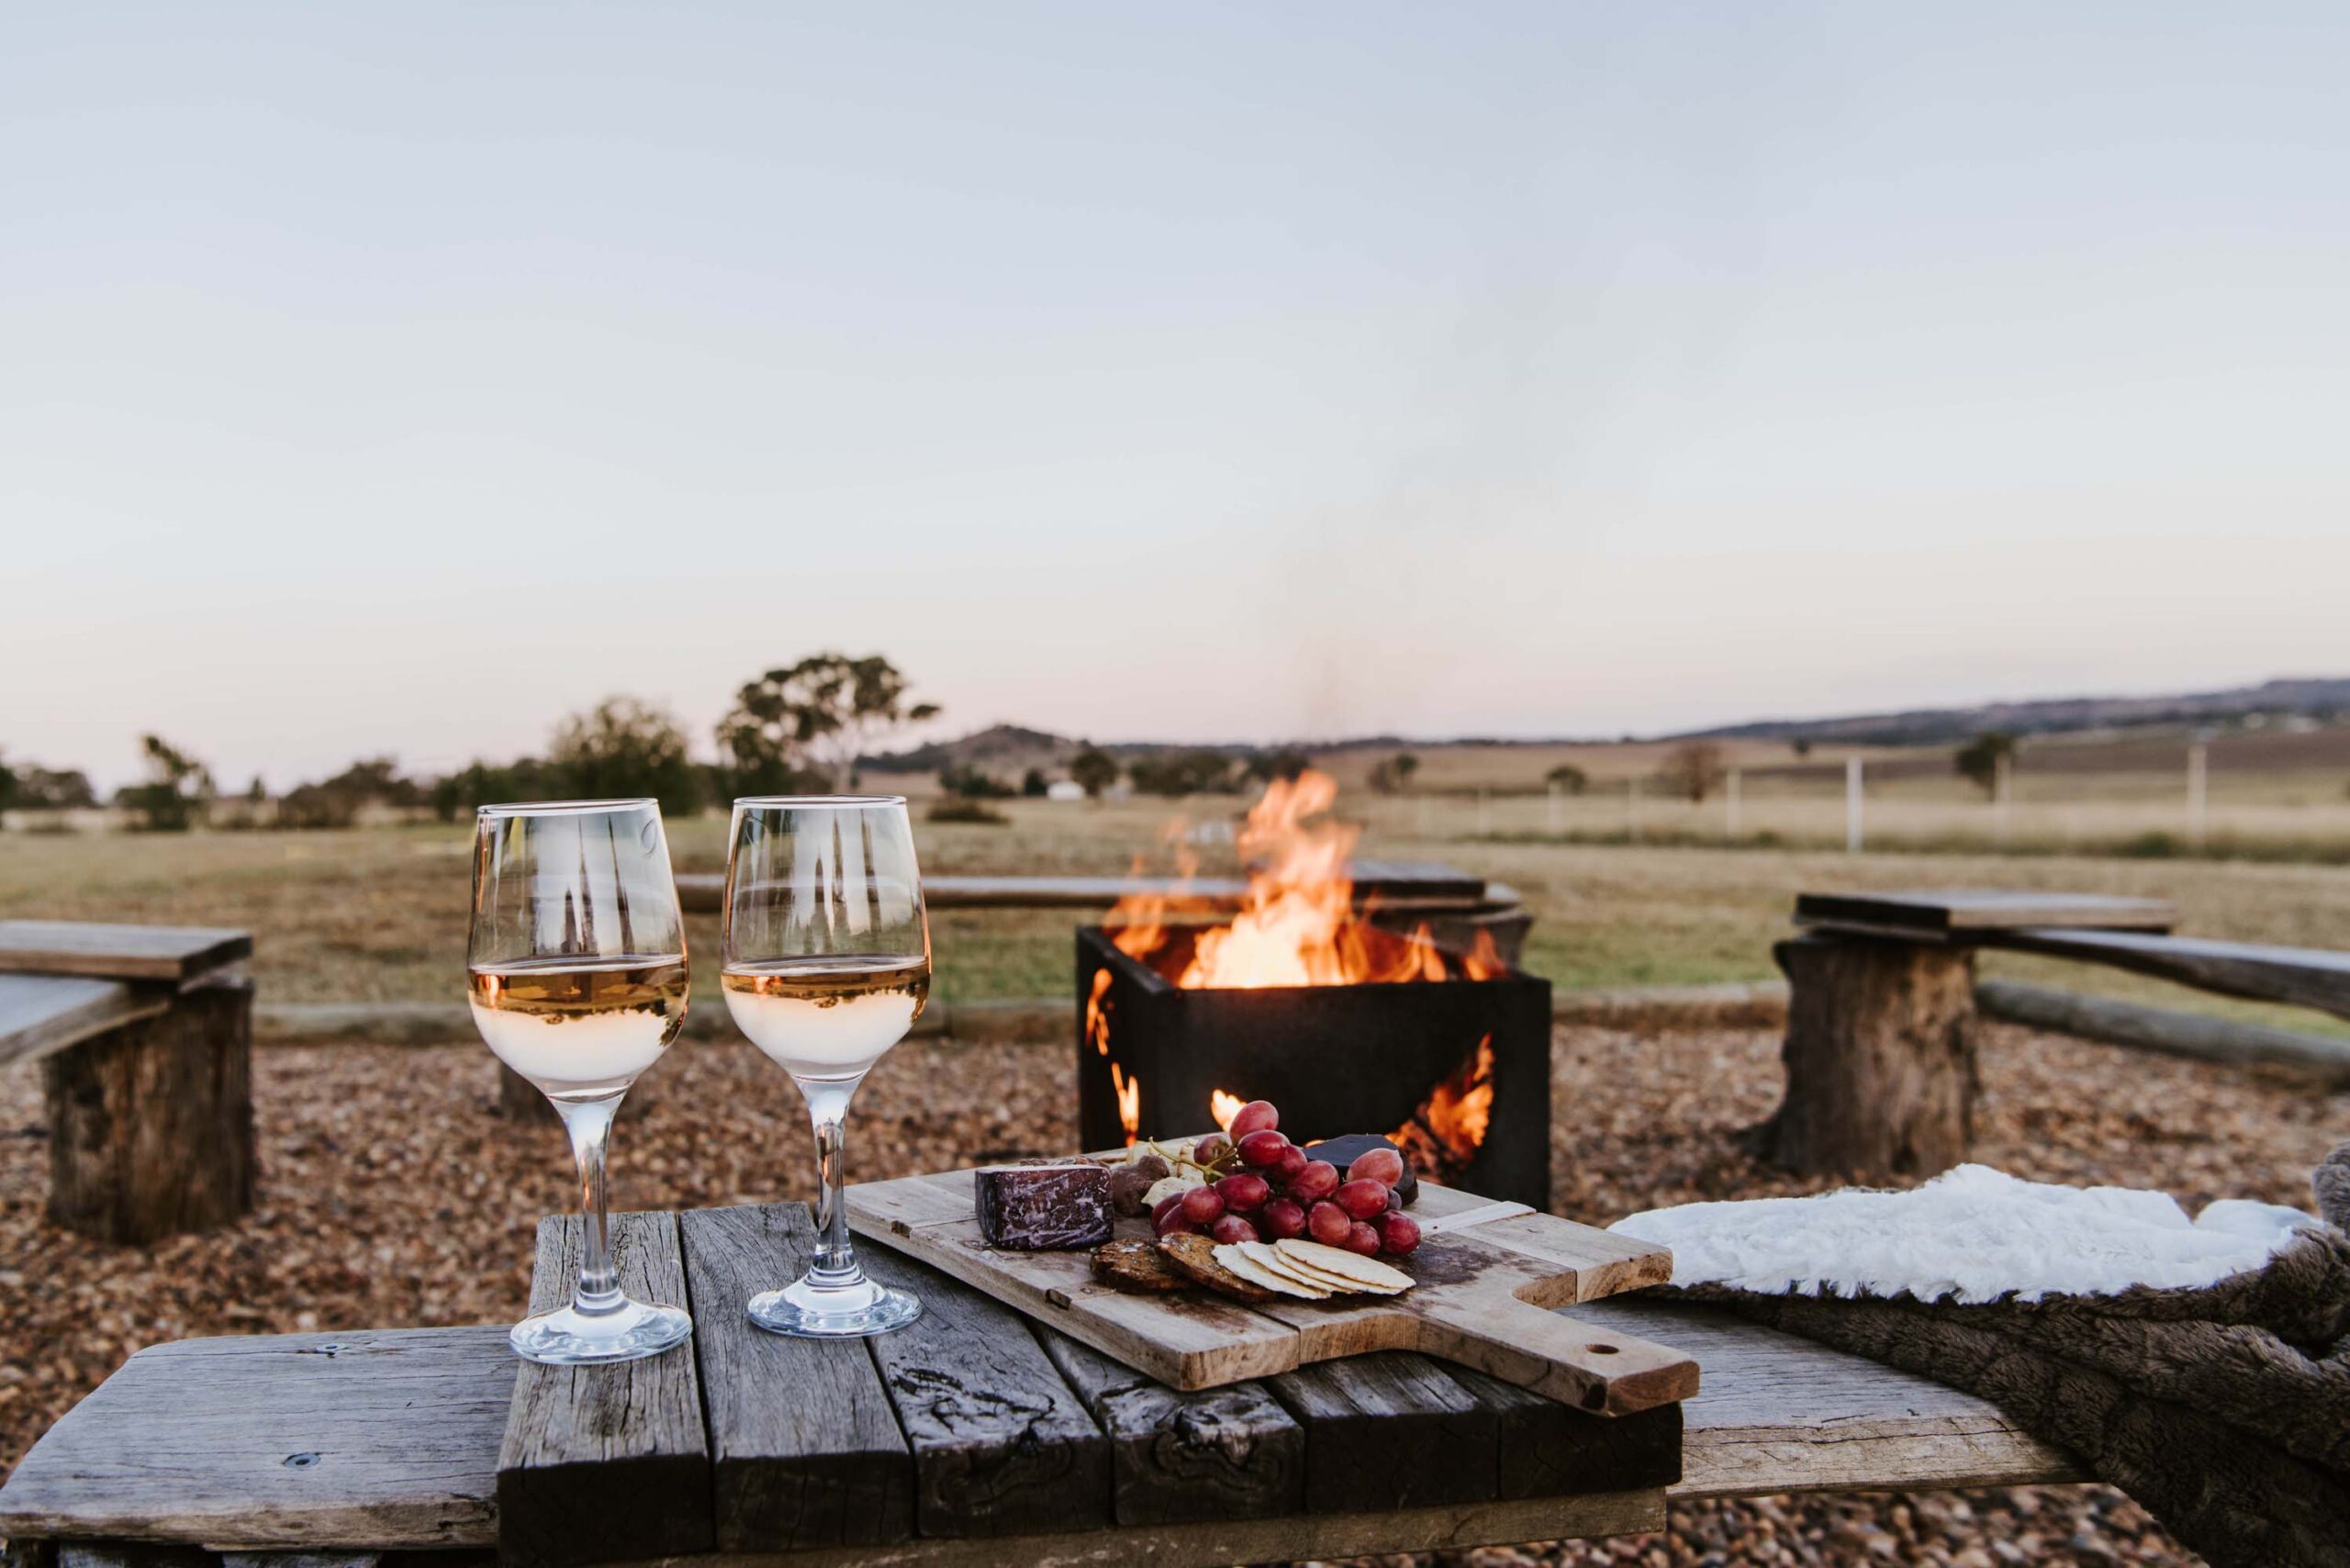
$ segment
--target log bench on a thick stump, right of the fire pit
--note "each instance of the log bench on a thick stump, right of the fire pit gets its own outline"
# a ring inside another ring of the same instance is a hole
[[[1814,1175],[1932,1175],[1967,1159],[1974,954],[1983,947],[2350,1018],[2350,954],[2183,938],[2171,936],[2174,924],[2162,898],[2002,889],[1798,896],[1800,933],[1772,947],[1788,978],[1786,1098],[1753,1131],[1758,1147]]]

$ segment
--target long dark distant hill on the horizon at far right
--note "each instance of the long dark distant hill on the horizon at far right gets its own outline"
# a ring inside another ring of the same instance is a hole
[[[2254,715],[2291,715],[2317,722],[2350,717],[2350,679],[2270,679],[2258,686],[2178,696],[2059,696],[2028,703],[1983,703],[1979,708],[1864,712],[1840,719],[1758,719],[1751,724],[1699,729],[1673,738],[1939,745],[1979,736],[1986,729],[2005,729],[2014,736],[2044,736],[2056,731],[2143,729],[2157,724],[2230,724]]]

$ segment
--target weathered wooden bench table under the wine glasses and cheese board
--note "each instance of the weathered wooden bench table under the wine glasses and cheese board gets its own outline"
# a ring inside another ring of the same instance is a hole
[[[540,1225],[533,1305],[576,1237]],[[1394,1352],[1180,1394],[881,1246],[865,1262],[919,1324],[764,1335],[743,1300],[806,1262],[797,1204],[616,1215],[616,1248],[630,1291],[691,1302],[691,1349],[524,1366],[503,1326],[157,1345],[33,1446],[0,1535],[24,1568],[1170,1568],[1657,1530],[1671,1497],[2080,1479],[1979,1399],[1694,1307],[1567,1312],[1704,1366],[1685,1406],[1603,1420]]]

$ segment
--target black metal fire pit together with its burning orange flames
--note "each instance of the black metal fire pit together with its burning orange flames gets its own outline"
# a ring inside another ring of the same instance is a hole
[[[1076,933],[1086,1147],[1196,1133],[1248,1100],[1295,1138],[1386,1133],[1438,1182],[1549,1204],[1551,983],[1490,943],[1445,950],[1358,907],[1354,830],[1321,773],[1248,816],[1253,863],[1222,926],[1130,898]]]

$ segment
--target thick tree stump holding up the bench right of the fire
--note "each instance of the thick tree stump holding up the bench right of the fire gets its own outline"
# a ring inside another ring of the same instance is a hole
[[[1798,936],[1786,971],[1786,1100],[1762,1150],[1812,1175],[1934,1175],[1974,1135],[1974,952]]]

